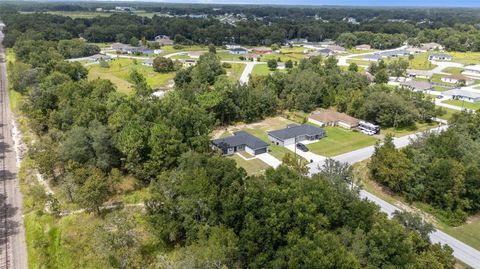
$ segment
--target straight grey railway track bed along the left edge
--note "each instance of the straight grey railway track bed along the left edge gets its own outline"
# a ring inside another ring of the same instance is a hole
[[[0,58],[5,57],[0,35]],[[22,194],[12,139],[12,117],[7,92],[6,65],[0,63],[0,268],[26,269],[27,248],[22,216]]]

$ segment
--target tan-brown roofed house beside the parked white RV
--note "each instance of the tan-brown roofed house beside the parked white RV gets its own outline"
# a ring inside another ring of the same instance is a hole
[[[308,121],[320,126],[341,126],[346,129],[356,128],[360,122],[359,119],[333,110],[315,111],[310,114]]]

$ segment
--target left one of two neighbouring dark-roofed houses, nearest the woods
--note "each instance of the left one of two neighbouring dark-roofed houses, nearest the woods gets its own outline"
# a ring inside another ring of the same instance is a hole
[[[268,144],[245,131],[235,132],[233,136],[212,140],[212,145],[220,149],[224,155],[232,155],[238,151],[246,151],[251,155],[268,152]]]

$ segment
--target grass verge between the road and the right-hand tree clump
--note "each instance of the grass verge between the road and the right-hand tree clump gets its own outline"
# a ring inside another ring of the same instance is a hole
[[[368,160],[356,163],[353,165],[353,175],[356,184],[361,186],[366,191],[374,194],[375,196],[396,205],[397,207],[403,207],[408,203],[401,196],[395,195],[381,184],[370,179],[367,168]],[[399,206],[400,205],[400,206]],[[423,212],[429,213],[426,218],[435,225],[436,228],[446,232],[447,234],[457,238],[458,240],[470,245],[473,248],[480,250],[480,216],[470,217],[469,220],[463,225],[458,227],[452,227],[430,214],[432,212],[431,206],[423,203],[413,203],[409,205],[415,207],[416,211],[421,209]],[[425,217],[425,216],[424,216]]]

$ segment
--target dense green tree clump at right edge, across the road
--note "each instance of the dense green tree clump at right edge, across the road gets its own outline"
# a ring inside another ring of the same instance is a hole
[[[378,146],[372,178],[408,201],[432,205],[454,225],[480,210],[480,117],[455,115],[447,131],[416,139],[397,150],[391,140]]]

